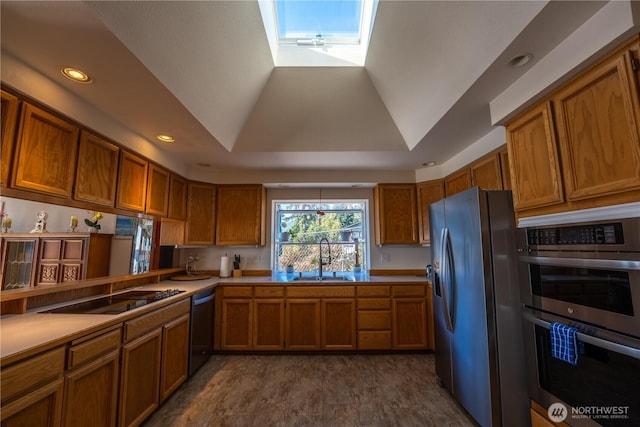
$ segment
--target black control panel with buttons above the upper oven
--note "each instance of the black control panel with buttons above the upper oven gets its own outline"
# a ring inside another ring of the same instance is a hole
[[[527,229],[528,245],[621,245],[621,223],[587,224]]]

